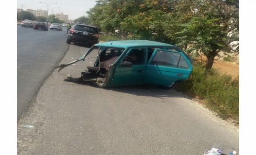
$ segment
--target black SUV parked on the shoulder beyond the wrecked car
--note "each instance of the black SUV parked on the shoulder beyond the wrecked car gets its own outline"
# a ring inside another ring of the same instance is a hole
[[[66,43],[73,42],[94,45],[95,43],[99,43],[99,41],[100,35],[96,26],[78,22],[69,30]]]

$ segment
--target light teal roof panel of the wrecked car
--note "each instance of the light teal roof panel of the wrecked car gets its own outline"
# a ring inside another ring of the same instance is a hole
[[[117,40],[117,41],[109,41],[104,43],[97,43],[94,46],[108,46],[108,47],[141,47],[141,46],[165,46],[165,47],[175,47],[174,45],[168,44],[168,43],[160,43],[150,40]]]

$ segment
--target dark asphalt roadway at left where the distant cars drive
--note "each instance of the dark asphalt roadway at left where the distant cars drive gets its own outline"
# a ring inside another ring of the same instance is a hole
[[[63,31],[17,25],[17,118],[27,110],[42,82],[68,50]]]

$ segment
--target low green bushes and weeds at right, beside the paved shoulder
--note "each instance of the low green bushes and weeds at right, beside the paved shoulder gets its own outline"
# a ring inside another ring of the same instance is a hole
[[[189,79],[177,85],[177,90],[205,100],[205,106],[225,119],[239,123],[239,80],[214,69],[204,72],[195,65]]]

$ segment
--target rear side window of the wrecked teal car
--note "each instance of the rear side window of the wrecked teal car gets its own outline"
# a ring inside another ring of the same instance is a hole
[[[176,68],[189,68],[188,63],[180,53],[162,50],[156,51],[155,56],[153,57],[150,64]]]

